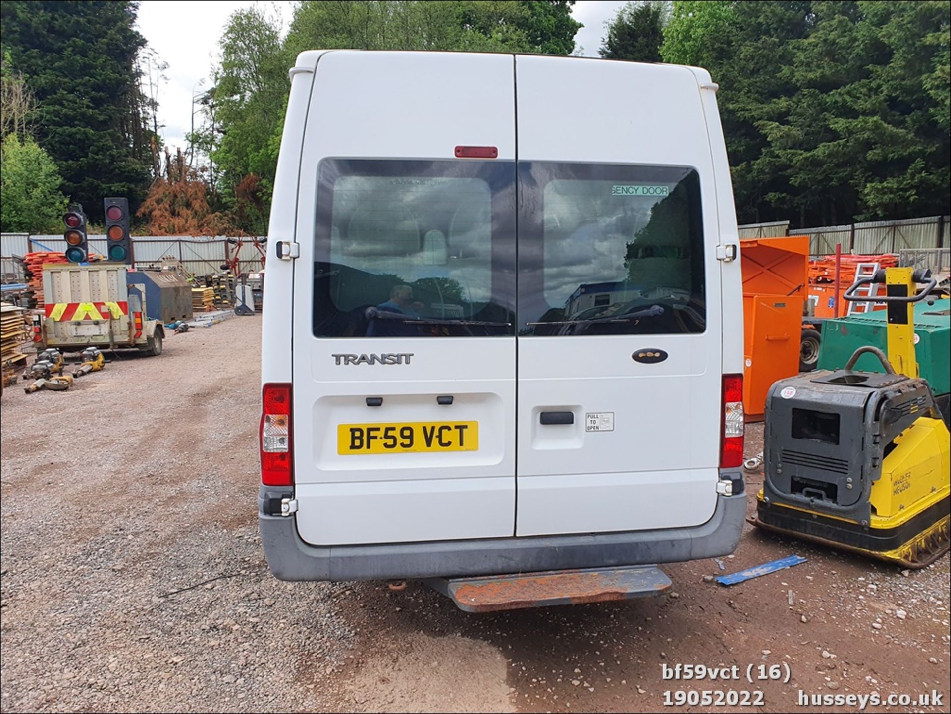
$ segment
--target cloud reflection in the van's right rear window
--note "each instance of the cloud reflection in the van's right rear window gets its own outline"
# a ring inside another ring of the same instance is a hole
[[[545,300],[561,307],[579,285],[627,280],[627,245],[659,197],[612,196],[613,182],[545,185]]]

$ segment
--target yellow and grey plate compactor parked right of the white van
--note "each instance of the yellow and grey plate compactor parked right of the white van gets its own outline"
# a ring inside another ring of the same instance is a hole
[[[884,283],[884,295],[857,294],[873,282]],[[928,284],[916,295],[920,282]],[[929,271],[912,268],[858,280],[844,299],[886,303],[887,357],[861,347],[842,370],[769,390],[757,526],[905,568],[924,568],[948,550],[951,447],[919,376],[912,304],[935,284]],[[884,374],[852,370],[864,353],[882,361]]]

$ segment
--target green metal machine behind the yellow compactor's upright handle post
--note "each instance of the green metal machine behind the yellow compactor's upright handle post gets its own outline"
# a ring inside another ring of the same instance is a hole
[[[819,348],[818,367],[838,370],[864,345],[886,348],[887,310],[874,310],[848,318],[826,319]],[[944,420],[948,421],[951,393],[951,299],[915,305],[915,353],[922,378],[931,387]],[[883,373],[882,363],[870,354],[859,357],[855,370]]]

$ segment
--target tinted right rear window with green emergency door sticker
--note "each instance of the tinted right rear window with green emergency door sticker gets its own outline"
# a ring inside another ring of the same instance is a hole
[[[695,170],[522,163],[518,181],[519,335],[704,332]]]

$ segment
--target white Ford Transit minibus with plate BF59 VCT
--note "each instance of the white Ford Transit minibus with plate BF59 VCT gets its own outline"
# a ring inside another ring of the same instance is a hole
[[[734,550],[742,285],[708,72],[333,50],[290,73],[262,335],[274,574]]]

